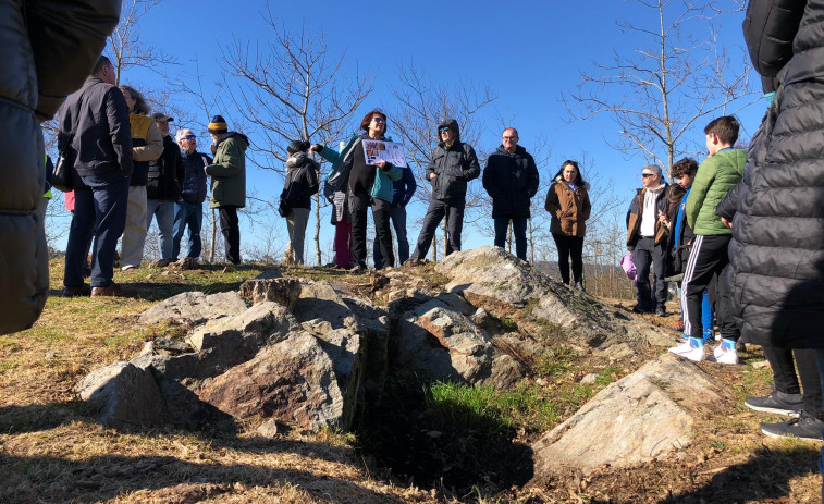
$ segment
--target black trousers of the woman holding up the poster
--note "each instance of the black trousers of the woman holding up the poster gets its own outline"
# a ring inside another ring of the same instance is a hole
[[[392,229],[390,213],[392,204],[374,199],[369,195],[349,194],[349,213],[352,214],[352,254],[359,266],[366,267],[366,229],[368,210],[372,208],[376,238],[379,242],[383,266],[395,266],[395,253],[392,249]]]

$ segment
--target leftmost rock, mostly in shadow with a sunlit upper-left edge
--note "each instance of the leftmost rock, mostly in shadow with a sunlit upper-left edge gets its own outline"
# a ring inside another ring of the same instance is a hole
[[[171,422],[151,371],[116,362],[84,377],[77,395],[100,408],[99,421],[112,429],[162,427]]]

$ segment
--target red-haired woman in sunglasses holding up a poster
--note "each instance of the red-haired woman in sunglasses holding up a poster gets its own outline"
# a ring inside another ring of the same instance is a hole
[[[383,265],[394,266],[390,211],[392,207],[392,181],[401,179],[403,170],[382,159],[379,145],[369,140],[385,140],[386,114],[372,110],[360,122],[364,133],[354,133],[346,146],[337,152],[322,145],[312,145],[311,150],[332,163],[327,184],[334,190],[345,190],[352,214],[352,253],[357,265],[353,273],[362,273],[366,265],[367,213],[371,206],[374,219],[376,239],[380,243]],[[369,144],[369,152],[367,146]],[[377,158],[377,159],[376,159]],[[368,163],[371,161],[371,164]]]

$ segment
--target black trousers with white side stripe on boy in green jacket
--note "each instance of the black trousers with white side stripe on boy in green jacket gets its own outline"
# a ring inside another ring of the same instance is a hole
[[[684,332],[690,337],[703,337],[701,322],[701,302],[704,288],[710,284],[714,274],[718,275],[718,300],[715,320],[721,337],[738,341],[740,329],[733,320],[731,299],[731,269],[727,246],[731,236],[726,235],[696,235],[692,250],[689,253],[687,269],[684,271],[684,296],[687,308],[684,318]]]

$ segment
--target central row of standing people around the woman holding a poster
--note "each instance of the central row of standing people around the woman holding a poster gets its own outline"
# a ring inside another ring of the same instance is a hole
[[[319,153],[332,164],[324,181],[323,194],[333,207],[335,265],[355,273],[367,269],[369,209],[374,220],[373,260],[378,269],[395,265],[392,228],[397,238],[398,263],[422,260],[429,253],[435,230],[444,219],[445,254],[459,251],[468,184],[481,176],[475,149],[460,140],[458,122],[448,118],[438,124],[438,144],[426,168],[426,180],[431,184],[429,206],[410,254],[406,205],[417,188],[415,176],[409,167],[398,167],[383,159],[368,164],[362,147],[366,139],[391,140],[386,136],[386,114],[371,110],[360,122],[360,133],[353,133],[340,149],[319,144],[308,146],[310,152]],[[501,146],[487,160],[482,183],[492,198],[495,246],[504,247],[512,225],[516,255],[526,261],[527,221],[531,217],[530,204],[538,192],[539,175],[534,159],[518,145],[518,139],[516,128],[504,130]],[[306,218],[302,216],[305,210],[308,216],[309,196],[319,190],[315,173],[319,167],[307,158],[306,147],[298,140],[290,145],[288,174],[281,195],[281,214],[290,222],[290,239],[296,262],[304,260]],[[552,216],[551,231],[558,247],[562,279],[569,284],[571,256],[575,287],[581,291],[583,234],[591,210],[588,187],[578,163],[565,161],[548,193],[545,205]]]

